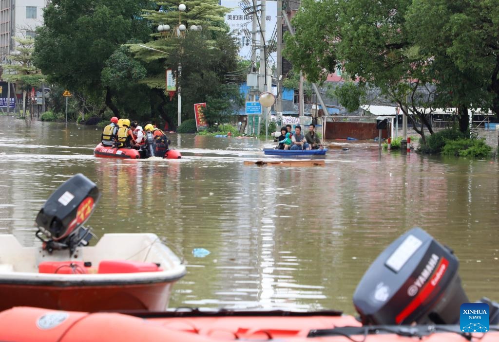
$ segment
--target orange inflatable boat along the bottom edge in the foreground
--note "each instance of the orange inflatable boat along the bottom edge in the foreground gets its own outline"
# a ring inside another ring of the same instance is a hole
[[[230,316],[227,316],[230,315]],[[0,313],[0,341],[37,342],[496,342],[498,327],[462,333],[459,326],[366,326],[335,312],[81,313],[17,307]]]

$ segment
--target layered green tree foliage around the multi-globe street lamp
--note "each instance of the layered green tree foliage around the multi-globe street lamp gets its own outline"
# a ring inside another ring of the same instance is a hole
[[[206,102],[207,122],[225,122],[226,116],[233,112],[233,105],[242,102],[237,87],[226,82],[226,75],[239,67],[237,40],[228,33],[224,23],[224,13],[229,9],[220,6],[217,0],[183,3],[187,6],[185,12],[179,12],[175,1],[161,2],[155,10],[144,11],[144,17],[155,27],[168,24],[171,30],[151,34],[152,40],[144,44],[149,49],[129,45],[135,57],[147,63],[150,70],[141,83],[165,97],[164,115],[176,117],[177,96],[172,101],[166,97],[165,69],[170,68],[178,75],[181,65],[178,85],[182,89],[182,120],[194,117],[194,104]],[[180,36],[175,28],[179,25],[179,16],[181,23],[188,27]],[[192,25],[201,26],[202,30],[190,30]]]

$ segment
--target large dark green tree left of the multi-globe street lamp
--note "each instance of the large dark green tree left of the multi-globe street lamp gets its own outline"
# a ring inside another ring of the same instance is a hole
[[[106,61],[130,39],[145,40],[149,22],[140,16],[148,0],[53,0],[36,29],[34,63],[48,80],[67,89],[113,103],[117,90],[102,82]],[[109,65],[108,65],[109,66]]]

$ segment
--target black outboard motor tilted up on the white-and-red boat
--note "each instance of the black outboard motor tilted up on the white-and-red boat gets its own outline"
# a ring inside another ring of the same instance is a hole
[[[76,247],[87,245],[93,235],[83,224],[99,198],[95,183],[81,173],[55,190],[36,216],[36,236],[43,241],[43,249],[51,252],[67,248],[72,255]]]

